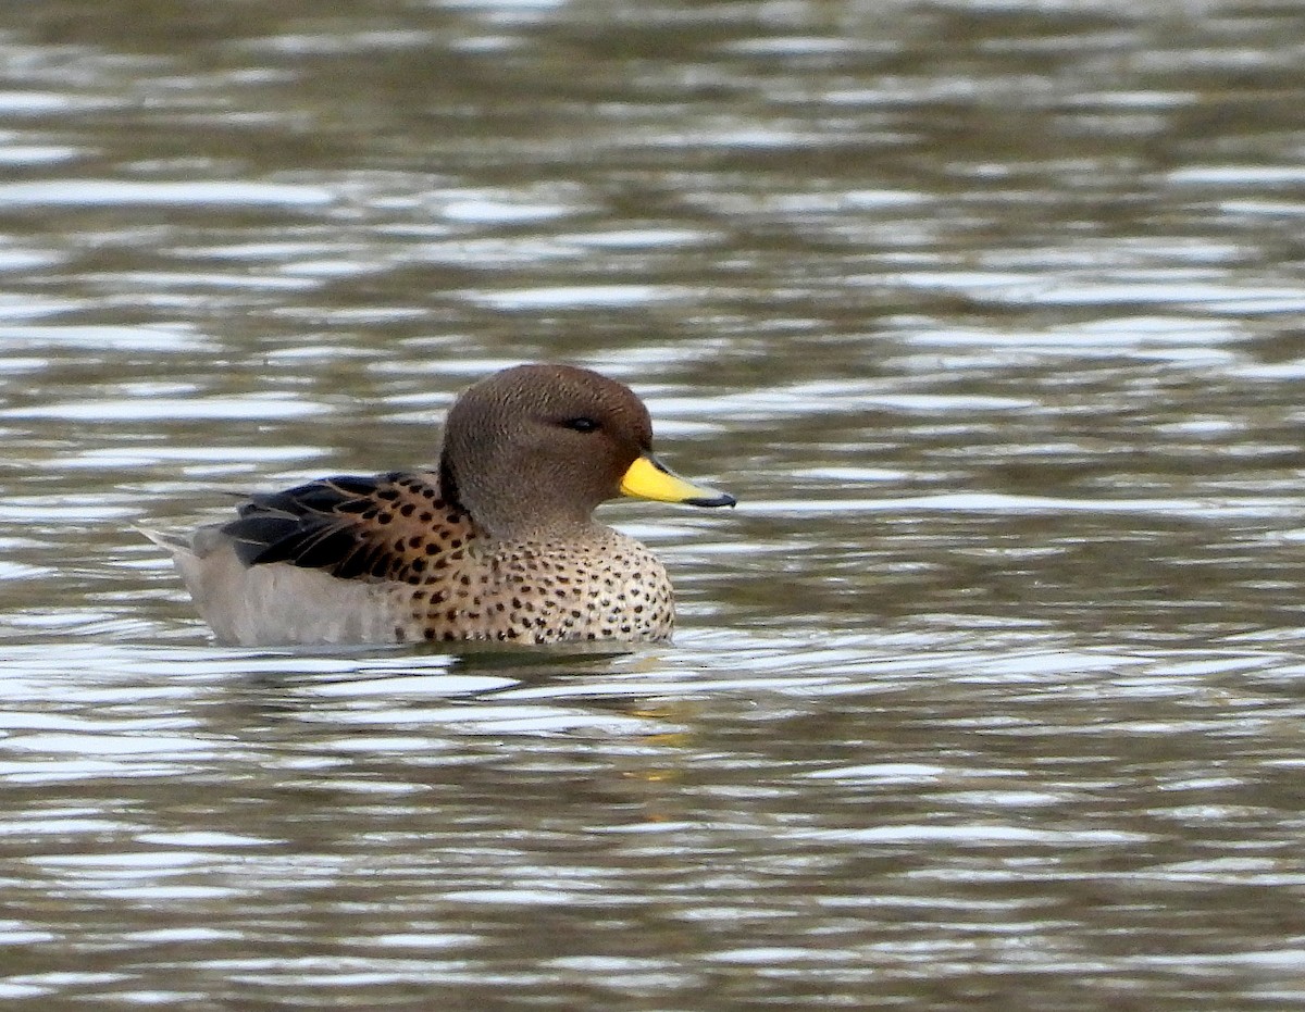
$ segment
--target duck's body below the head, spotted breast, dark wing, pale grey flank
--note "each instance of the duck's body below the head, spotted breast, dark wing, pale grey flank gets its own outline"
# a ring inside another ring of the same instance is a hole
[[[595,523],[495,540],[436,473],[324,479],[240,514],[151,535],[228,643],[656,642],[675,625],[666,567],[634,539]]]

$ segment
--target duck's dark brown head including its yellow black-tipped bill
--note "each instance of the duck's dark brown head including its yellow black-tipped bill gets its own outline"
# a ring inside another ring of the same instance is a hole
[[[572,365],[518,365],[482,380],[449,411],[445,494],[492,537],[583,527],[620,494],[732,506],[651,456],[652,421],[634,393]]]

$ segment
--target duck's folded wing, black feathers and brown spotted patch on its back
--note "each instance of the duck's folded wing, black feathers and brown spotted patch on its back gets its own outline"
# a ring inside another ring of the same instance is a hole
[[[238,509],[221,529],[241,563],[288,562],[341,579],[423,583],[435,558],[475,536],[438,476],[420,471],[320,479]]]

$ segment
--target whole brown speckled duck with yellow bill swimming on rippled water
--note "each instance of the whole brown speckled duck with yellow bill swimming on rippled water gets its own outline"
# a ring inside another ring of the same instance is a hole
[[[736,505],[652,454],[630,387],[534,363],[455,399],[429,469],[324,477],[243,497],[222,523],[141,532],[223,644],[668,643],[666,566],[594,519],[620,496]]]

